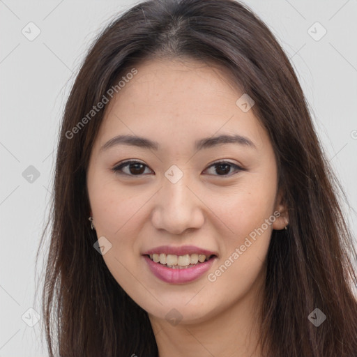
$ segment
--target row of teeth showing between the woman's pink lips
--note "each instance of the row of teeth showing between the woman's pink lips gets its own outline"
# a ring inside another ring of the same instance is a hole
[[[150,255],[144,255],[151,259],[154,263],[160,264],[167,268],[172,269],[187,269],[194,266],[204,264],[206,261],[210,261],[217,257],[216,255],[203,255],[203,254],[186,254],[186,255],[172,255],[165,253],[155,253]]]

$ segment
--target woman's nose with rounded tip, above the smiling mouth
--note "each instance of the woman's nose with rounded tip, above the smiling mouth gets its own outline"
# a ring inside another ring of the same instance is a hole
[[[176,183],[163,178],[151,215],[156,229],[183,234],[189,229],[199,229],[204,224],[204,204],[194,190],[188,187],[184,178],[185,175]]]

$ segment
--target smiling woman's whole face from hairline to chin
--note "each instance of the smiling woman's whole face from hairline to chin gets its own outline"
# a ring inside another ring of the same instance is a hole
[[[91,152],[93,225],[109,271],[149,316],[204,321],[254,299],[264,281],[272,230],[286,225],[275,155],[224,69],[136,69]]]

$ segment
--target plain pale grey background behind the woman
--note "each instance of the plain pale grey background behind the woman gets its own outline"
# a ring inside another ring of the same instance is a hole
[[[35,257],[52,195],[61,112],[91,40],[134,3],[0,0],[0,357],[47,356],[40,323],[29,326],[36,313],[28,309],[40,313],[35,291],[43,257],[37,271]],[[245,3],[296,69],[356,232],[357,0]],[[34,40],[22,33],[36,34],[29,22],[40,29]]]

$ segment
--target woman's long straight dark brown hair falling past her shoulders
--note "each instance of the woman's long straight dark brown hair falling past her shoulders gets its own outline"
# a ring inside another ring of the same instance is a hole
[[[56,158],[43,289],[50,356],[158,356],[147,313],[93,248],[97,236],[88,221],[86,191],[105,108],[88,114],[130,68],[158,56],[230,70],[236,86],[255,100],[252,110],[270,135],[289,229],[273,231],[268,250],[264,356],[356,356],[356,250],[340,208],[340,187],[286,54],[249,8],[231,0],[139,3],[107,26],[89,50],[66,103]],[[315,308],[326,315],[319,327],[308,319]]]

